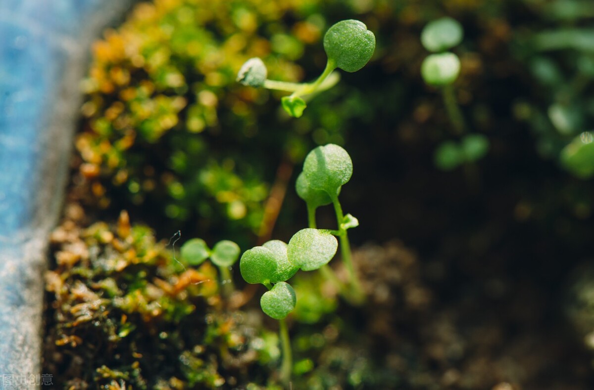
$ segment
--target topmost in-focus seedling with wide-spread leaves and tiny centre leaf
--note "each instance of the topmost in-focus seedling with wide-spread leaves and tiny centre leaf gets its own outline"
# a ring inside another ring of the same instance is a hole
[[[301,117],[307,103],[305,98],[334,87],[340,77],[336,69],[356,72],[363,68],[375,50],[375,36],[358,20],[343,20],[334,24],[324,36],[324,50],[328,56],[324,72],[309,83],[275,81],[267,79],[267,69],[259,58],[244,63],[237,81],[250,87],[263,87],[292,92],[281,99],[285,111],[292,117]]]

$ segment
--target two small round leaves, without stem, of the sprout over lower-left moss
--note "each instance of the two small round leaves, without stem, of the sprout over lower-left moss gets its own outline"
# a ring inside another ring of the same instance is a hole
[[[199,266],[210,257],[214,265],[230,267],[237,261],[240,252],[239,245],[227,239],[217,242],[211,250],[203,239],[192,238],[182,245],[181,258],[191,266]]]

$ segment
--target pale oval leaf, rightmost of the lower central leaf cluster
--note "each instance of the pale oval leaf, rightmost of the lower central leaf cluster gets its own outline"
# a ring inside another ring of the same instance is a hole
[[[327,230],[302,229],[289,241],[289,261],[304,271],[317,270],[336,254],[338,241]]]

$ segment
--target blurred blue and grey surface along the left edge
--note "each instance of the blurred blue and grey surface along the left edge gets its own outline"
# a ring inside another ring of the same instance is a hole
[[[45,252],[78,82],[91,41],[130,2],[0,0],[0,389],[39,387]]]

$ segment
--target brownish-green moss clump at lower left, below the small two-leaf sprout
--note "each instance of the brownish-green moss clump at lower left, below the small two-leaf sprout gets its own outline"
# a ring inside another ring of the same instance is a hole
[[[46,273],[43,372],[57,385],[181,389],[267,382],[260,359],[266,362],[270,351],[258,341],[267,337],[260,317],[223,310],[210,262],[184,268],[150,229],[130,225],[127,213],[117,226],[80,228],[66,220],[52,241],[57,264]]]

